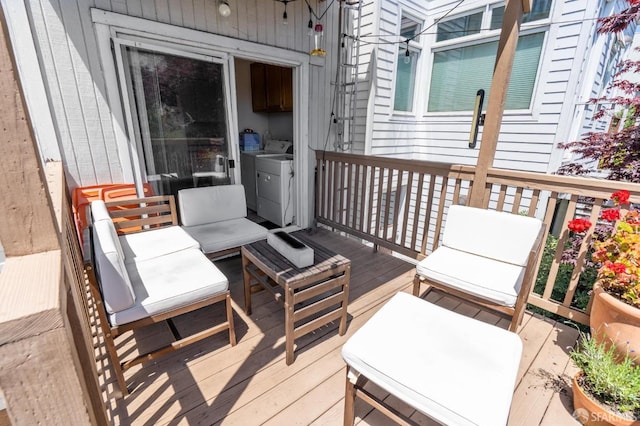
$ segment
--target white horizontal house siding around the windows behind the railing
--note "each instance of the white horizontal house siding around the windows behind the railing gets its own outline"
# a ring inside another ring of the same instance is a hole
[[[457,0],[380,0],[377,10],[379,28],[370,34],[380,34],[397,40],[402,8],[419,13],[424,26],[432,25],[459,3]],[[467,0],[451,15],[484,7],[487,0]],[[611,2],[615,3],[615,2]],[[570,140],[571,120],[575,103],[593,80],[585,79],[585,67],[592,56],[600,57],[600,47],[593,43],[596,21],[602,8],[611,8],[604,0],[554,0],[550,25],[540,58],[537,82],[531,110],[506,111],[494,166],[505,169],[553,172],[560,165],[561,153],[557,143]],[[375,10],[375,8],[373,8]],[[375,19],[374,19],[375,20]],[[365,139],[365,152],[373,155],[415,158],[428,161],[474,165],[479,149],[468,148],[471,126],[470,112],[427,113],[428,90],[431,80],[435,26],[421,36],[421,56],[416,83],[416,111],[413,114],[393,113],[393,90],[397,45],[378,44],[369,49],[375,55],[377,81],[374,101],[368,105],[371,117]],[[365,40],[371,40],[365,38]],[[361,52],[364,49],[361,48]],[[369,52],[368,52],[369,53]],[[363,62],[368,62],[364,59]],[[484,108],[488,99],[485,98]],[[360,104],[362,108],[367,105]],[[364,114],[359,112],[359,115]],[[478,142],[482,138],[478,136]],[[358,144],[354,144],[354,147]],[[479,143],[478,143],[479,146]]]

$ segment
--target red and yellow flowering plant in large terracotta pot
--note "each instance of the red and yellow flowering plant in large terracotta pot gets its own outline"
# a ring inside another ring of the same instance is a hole
[[[614,208],[603,210],[601,219],[614,225],[593,245],[592,259],[600,268],[589,325],[596,341],[640,363],[640,211],[629,209],[628,191],[614,192],[611,200]],[[586,219],[569,222],[576,233],[589,227]]]

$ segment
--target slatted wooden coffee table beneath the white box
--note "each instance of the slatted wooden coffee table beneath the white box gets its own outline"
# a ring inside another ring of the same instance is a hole
[[[251,314],[251,294],[262,289],[284,305],[287,365],[294,361],[294,340],[340,319],[347,329],[351,261],[314,243],[307,231],[292,233],[314,251],[314,264],[296,268],[266,240],[242,246],[245,311]]]

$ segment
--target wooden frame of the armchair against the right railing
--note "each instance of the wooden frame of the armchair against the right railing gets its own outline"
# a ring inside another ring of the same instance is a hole
[[[527,259],[527,266],[525,268],[525,274],[522,280],[522,286],[520,288],[520,292],[518,293],[518,297],[516,299],[516,303],[514,307],[492,303],[490,301],[487,301],[486,299],[477,297],[473,294],[465,293],[464,291],[449,287],[446,284],[428,280],[426,277],[423,277],[418,273],[416,273],[413,279],[413,295],[419,297],[420,285],[427,284],[429,285],[429,289],[427,291],[430,291],[432,288],[437,288],[437,289],[443,290],[444,292],[452,296],[458,297],[463,300],[467,300],[476,305],[489,308],[500,314],[511,317],[511,324],[509,325],[509,331],[516,332],[518,330],[518,327],[522,323],[522,318],[524,317],[524,312],[527,308],[527,301],[529,299],[529,294],[531,293],[531,288],[533,287],[533,283],[536,280],[535,273],[537,271],[538,260],[542,254],[545,230],[546,230],[546,226],[543,224],[540,227],[538,236],[536,237],[533,243],[533,247],[529,252],[529,257]]]

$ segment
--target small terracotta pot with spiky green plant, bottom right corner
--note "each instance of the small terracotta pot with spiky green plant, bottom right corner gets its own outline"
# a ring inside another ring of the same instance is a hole
[[[640,366],[585,334],[569,356],[581,370],[572,386],[576,419],[586,425],[640,425]]]

